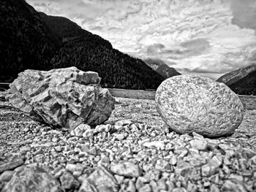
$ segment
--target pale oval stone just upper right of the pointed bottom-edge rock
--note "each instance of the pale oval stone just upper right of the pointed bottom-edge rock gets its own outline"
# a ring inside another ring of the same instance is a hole
[[[110,166],[110,170],[118,175],[125,177],[139,177],[141,174],[140,167],[130,162],[124,162]]]

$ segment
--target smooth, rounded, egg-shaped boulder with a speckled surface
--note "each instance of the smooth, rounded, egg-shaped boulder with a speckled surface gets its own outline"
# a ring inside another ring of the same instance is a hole
[[[179,134],[233,134],[244,116],[243,104],[227,85],[197,75],[165,80],[157,88],[155,101],[162,120]]]

